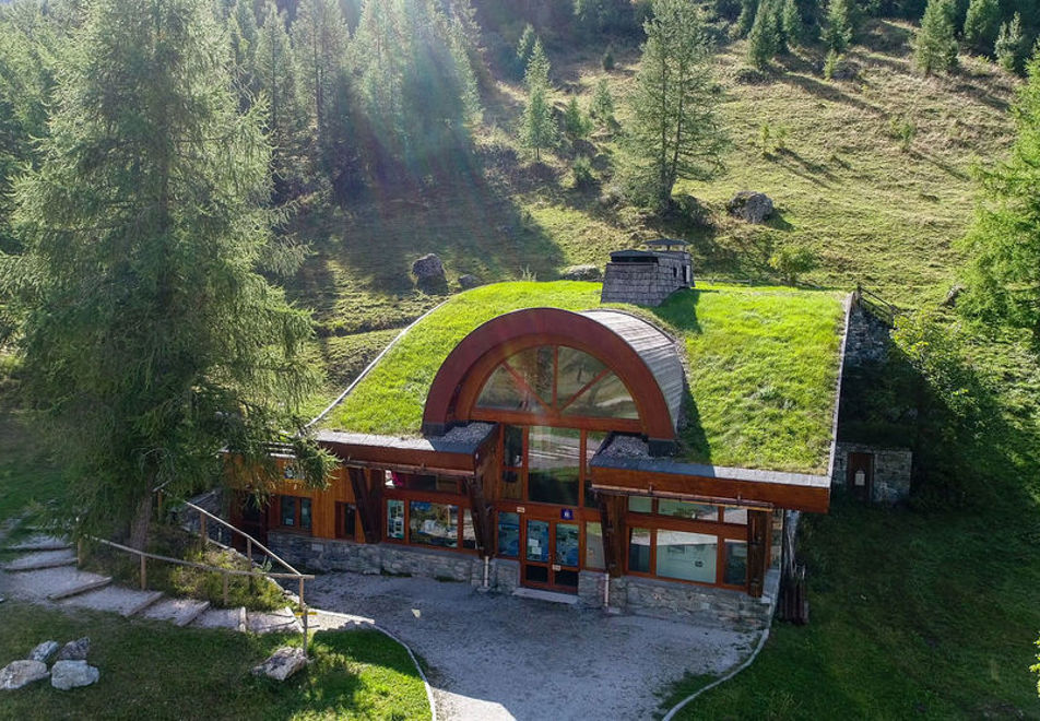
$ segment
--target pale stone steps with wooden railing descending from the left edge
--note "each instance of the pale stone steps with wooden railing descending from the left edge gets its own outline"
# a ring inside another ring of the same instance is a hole
[[[76,568],[75,552],[62,539],[35,535],[4,548],[20,554],[0,567],[0,596],[29,603],[90,608],[123,617],[165,620],[176,626],[228,628],[258,634],[303,630],[288,606],[275,612],[211,608],[208,601],[167,596],[113,582]]]

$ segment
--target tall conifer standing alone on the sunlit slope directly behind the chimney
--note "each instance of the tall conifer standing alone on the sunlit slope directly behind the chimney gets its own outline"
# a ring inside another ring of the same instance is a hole
[[[654,0],[643,29],[625,176],[637,202],[663,208],[678,178],[708,179],[721,169],[728,142],[700,10],[685,0]]]

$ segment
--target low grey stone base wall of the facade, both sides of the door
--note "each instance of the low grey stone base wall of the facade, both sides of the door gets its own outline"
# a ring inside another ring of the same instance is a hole
[[[268,546],[289,564],[316,571],[422,576],[470,583],[474,588],[480,588],[484,579],[482,558],[451,551],[391,543],[363,544],[284,532],[269,533]],[[722,623],[741,629],[765,628],[772,614],[779,578],[778,571],[768,571],[766,592],[761,599],[753,599],[730,589],[627,576],[611,579],[610,605],[624,613],[659,618],[688,619],[706,625]],[[602,608],[605,582],[603,571],[581,571],[578,575],[578,605]],[[488,564],[492,591],[512,593],[519,584],[518,562],[492,558]]]

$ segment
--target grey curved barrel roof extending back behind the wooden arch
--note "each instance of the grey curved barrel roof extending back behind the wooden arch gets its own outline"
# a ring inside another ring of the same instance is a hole
[[[619,335],[639,354],[661,387],[672,415],[672,425],[678,426],[682,417],[685,375],[679,361],[675,339],[638,316],[622,310],[594,309],[579,315],[604,326]]]

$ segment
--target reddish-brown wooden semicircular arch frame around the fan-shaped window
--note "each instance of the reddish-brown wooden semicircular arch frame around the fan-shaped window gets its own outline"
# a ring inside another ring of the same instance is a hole
[[[610,368],[628,389],[639,419],[580,418],[590,429],[641,433],[654,446],[672,447],[675,426],[667,401],[646,362],[624,338],[595,320],[559,308],[528,308],[494,318],[466,335],[441,364],[426,397],[423,433],[440,435],[453,423],[474,419],[476,398],[498,364],[525,348],[565,345],[588,353]],[[509,411],[477,413],[483,419],[530,423],[532,414]],[[512,415],[517,417],[511,417]],[[596,427],[602,426],[602,427]]]

